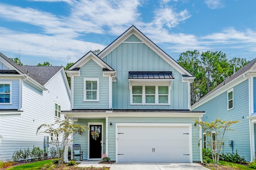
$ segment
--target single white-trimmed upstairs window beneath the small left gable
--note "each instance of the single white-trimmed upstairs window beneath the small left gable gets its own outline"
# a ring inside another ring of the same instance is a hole
[[[84,78],[84,102],[98,102],[99,78]]]

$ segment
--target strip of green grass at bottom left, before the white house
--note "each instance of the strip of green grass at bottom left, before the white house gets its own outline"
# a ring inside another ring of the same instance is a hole
[[[22,164],[18,166],[14,166],[12,168],[8,168],[6,170],[40,170],[40,168],[46,164],[51,162],[52,160],[43,160],[43,161],[38,161],[38,162],[32,162],[28,164]]]

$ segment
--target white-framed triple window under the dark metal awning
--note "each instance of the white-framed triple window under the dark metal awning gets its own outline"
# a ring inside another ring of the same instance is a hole
[[[132,86],[131,104],[170,104],[169,86]]]

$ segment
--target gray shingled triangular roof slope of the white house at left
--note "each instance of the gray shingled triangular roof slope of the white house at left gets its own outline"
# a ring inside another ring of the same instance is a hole
[[[44,86],[63,66],[21,66],[29,76]]]

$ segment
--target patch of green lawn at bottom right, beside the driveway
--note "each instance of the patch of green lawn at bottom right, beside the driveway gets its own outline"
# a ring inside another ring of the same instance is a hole
[[[248,166],[225,162],[221,160],[219,161],[219,163],[220,167],[206,166],[206,168],[209,168],[211,170],[255,170],[254,168],[249,168]]]

